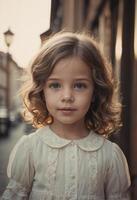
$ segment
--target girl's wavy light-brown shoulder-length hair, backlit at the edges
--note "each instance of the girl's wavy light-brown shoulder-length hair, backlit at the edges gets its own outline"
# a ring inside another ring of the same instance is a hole
[[[54,66],[70,56],[81,58],[92,71],[94,100],[85,116],[86,126],[98,134],[112,133],[121,126],[118,87],[111,65],[102,56],[97,43],[85,33],[57,33],[41,47],[30,65],[29,80],[21,92],[26,108],[25,118],[35,127],[52,123],[43,88]]]

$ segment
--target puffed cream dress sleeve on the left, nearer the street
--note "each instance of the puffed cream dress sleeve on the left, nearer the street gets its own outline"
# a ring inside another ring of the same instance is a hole
[[[34,177],[29,136],[23,136],[13,148],[7,168],[9,184],[1,200],[27,200]]]

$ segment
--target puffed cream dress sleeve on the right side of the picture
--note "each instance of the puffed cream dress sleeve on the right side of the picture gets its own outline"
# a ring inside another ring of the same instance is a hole
[[[112,154],[106,179],[107,200],[130,200],[130,175],[127,160],[120,147],[112,143]]]

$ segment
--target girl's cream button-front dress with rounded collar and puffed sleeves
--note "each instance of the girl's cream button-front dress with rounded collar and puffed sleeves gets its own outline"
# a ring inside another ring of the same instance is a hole
[[[24,135],[7,169],[2,200],[129,200],[126,158],[115,143],[93,131],[78,139],[56,135],[49,126]]]

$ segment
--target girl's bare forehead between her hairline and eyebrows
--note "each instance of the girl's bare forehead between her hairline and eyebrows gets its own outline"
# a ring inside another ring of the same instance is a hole
[[[51,76],[86,76],[91,78],[91,67],[79,57],[61,59],[54,67]]]

